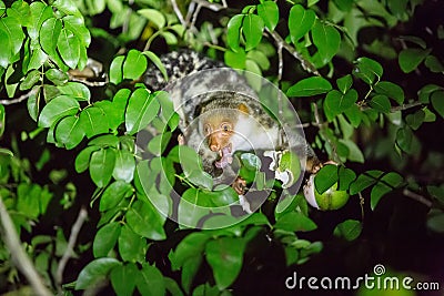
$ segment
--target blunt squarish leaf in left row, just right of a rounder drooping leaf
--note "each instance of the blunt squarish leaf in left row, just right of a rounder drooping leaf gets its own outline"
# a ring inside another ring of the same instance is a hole
[[[80,113],[80,122],[88,139],[109,132],[107,116],[97,106],[83,109]]]

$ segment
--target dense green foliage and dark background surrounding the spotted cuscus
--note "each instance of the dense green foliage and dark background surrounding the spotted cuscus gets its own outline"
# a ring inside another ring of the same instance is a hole
[[[0,1],[0,293],[39,289],[16,232],[48,295],[278,295],[294,271],[356,277],[375,264],[442,280],[443,12],[425,0]],[[208,217],[198,205],[239,197],[210,190],[199,155],[178,147],[169,94],[140,79],[167,75],[159,57],[179,48],[275,83],[339,164],[317,191],[336,184],[345,207],[281,202],[276,182],[248,218]]]

